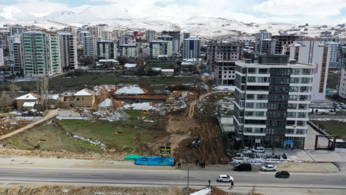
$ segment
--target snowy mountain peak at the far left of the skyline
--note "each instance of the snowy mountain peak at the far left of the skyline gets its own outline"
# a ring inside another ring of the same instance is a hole
[[[0,16],[8,19],[9,21],[28,21],[37,18],[29,12],[13,6],[2,8],[0,10]]]

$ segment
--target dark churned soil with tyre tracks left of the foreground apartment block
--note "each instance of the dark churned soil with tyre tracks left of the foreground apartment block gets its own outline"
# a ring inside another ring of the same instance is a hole
[[[194,120],[190,118],[190,122]],[[197,121],[197,128],[190,128],[188,138],[179,143],[179,150],[174,153],[178,162],[193,163],[196,160],[205,162],[207,165],[227,164],[231,161],[228,156],[224,143],[221,139],[221,131],[218,127],[218,121],[215,117],[203,117]],[[193,149],[192,157],[188,144],[193,141],[193,137],[200,135],[202,144]]]

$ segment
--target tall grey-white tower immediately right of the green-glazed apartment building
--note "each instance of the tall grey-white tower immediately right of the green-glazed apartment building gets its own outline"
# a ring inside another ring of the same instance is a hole
[[[59,32],[61,48],[61,66],[65,70],[78,69],[77,36],[69,32]]]

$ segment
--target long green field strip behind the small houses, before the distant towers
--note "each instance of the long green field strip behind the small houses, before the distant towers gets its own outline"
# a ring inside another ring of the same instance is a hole
[[[86,85],[102,85],[111,84],[139,84],[140,87],[148,89],[164,89],[164,86],[149,86],[152,84],[170,85],[176,83],[191,82],[193,78],[150,78],[150,77],[119,77],[115,74],[107,74],[107,72],[82,72],[81,76],[64,78],[67,76],[57,76],[49,79],[49,90],[65,91],[69,89],[84,89]],[[0,85],[0,90],[9,84]],[[22,90],[36,90],[36,81],[17,82]]]

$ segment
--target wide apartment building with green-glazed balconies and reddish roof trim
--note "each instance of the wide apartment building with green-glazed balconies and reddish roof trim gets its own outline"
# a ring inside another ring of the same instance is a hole
[[[24,77],[51,77],[62,73],[60,36],[31,30],[21,33]]]

